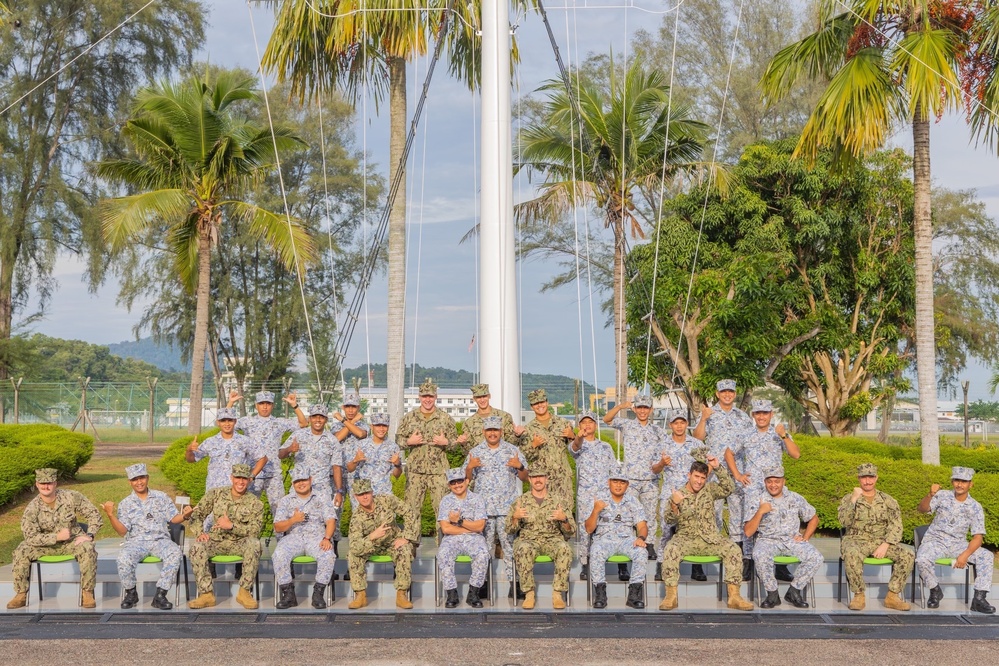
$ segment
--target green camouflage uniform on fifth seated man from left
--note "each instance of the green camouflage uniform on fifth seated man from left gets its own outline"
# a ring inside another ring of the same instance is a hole
[[[372,555],[391,555],[395,565],[395,589],[408,590],[413,571],[413,549],[408,546],[393,548],[392,542],[402,537],[410,543],[420,542],[420,514],[412,505],[403,502],[395,495],[375,495],[371,513],[360,504],[350,515],[350,547],[347,564],[350,569],[350,589],[363,592],[368,588],[368,572],[365,564]],[[402,516],[402,528],[396,522]],[[382,524],[388,531],[381,539],[372,541],[368,535]]]

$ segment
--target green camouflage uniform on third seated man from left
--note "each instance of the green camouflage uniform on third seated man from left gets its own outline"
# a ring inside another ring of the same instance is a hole
[[[202,543],[197,538],[202,533],[205,518],[211,516],[212,529],[208,541]],[[218,528],[222,516],[229,516],[231,530]],[[247,492],[240,498],[232,496],[232,488],[213,488],[205,493],[191,514],[193,541],[188,552],[191,568],[198,582],[198,594],[212,591],[212,575],[208,560],[216,555],[238,555],[243,558],[243,576],[239,586],[244,590],[253,589],[260,564],[260,529],[264,524],[264,504],[253,493]]]

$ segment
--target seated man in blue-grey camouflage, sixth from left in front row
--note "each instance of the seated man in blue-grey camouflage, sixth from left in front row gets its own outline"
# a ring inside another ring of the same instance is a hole
[[[468,579],[465,603],[472,608],[482,608],[479,590],[486,582],[489,569],[489,551],[482,538],[482,530],[486,527],[486,504],[478,493],[468,490],[468,479],[461,467],[448,470],[447,484],[451,492],[444,496],[437,510],[437,526],[444,535],[437,549],[437,567],[446,596],[444,606],[458,607],[454,563],[459,555],[467,555],[472,558],[472,575]]]

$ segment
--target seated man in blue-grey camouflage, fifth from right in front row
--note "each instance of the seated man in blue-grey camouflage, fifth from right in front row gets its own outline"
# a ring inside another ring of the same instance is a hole
[[[625,605],[629,608],[645,608],[642,588],[649,561],[646,549],[649,529],[642,503],[636,496],[628,493],[628,476],[627,472],[615,466],[607,482],[610,493],[605,491],[597,497],[593,502],[593,511],[584,524],[584,529],[593,535],[593,544],[590,546],[593,568],[590,576],[593,580],[594,608],[607,608],[605,570],[607,559],[611,555],[626,555],[632,562]]]

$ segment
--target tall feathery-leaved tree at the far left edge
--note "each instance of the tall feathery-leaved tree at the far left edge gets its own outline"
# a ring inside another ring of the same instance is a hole
[[[0,378],[11,371],[16,320],[49,303],[60,252],[86,256],[99,281],[100,190],[84,165],[118,150],[115,128],[135,87],[188,63],[203,40],[196,0],[136,13],[144,4],[19,0],[0,16]]]

